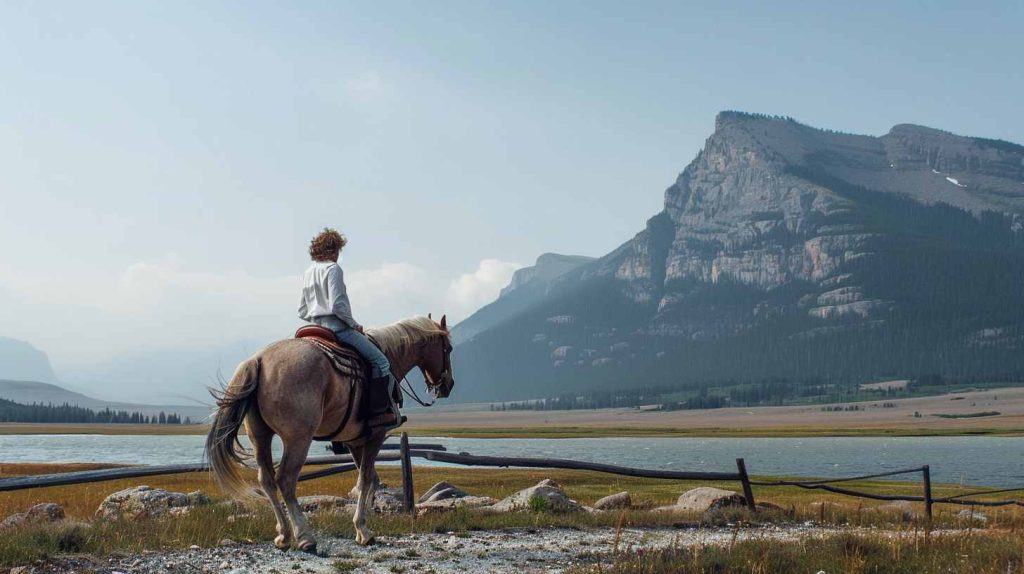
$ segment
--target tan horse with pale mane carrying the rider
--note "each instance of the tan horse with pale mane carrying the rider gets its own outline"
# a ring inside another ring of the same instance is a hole
[[[391,363],[391,372],[401,381],[414,367],[423,371],[427,388],[435,398],[452,393],[452,340],[446,317],[435,322],[429,316],[403,319],[390,325],[367,329]],[[365,392],[362,381],[339,373],[316,346],[301,339],[272,343],[239,365],[230,382],[211,390],[217,400],[213,426],[206,439],[210,470],[220,488],[229,496],[246,499],[260,490],[269,499],[278,522],[274,545],[283,550],[295,547],[313,553],[316,538],[306,523],[296,498],[299,472],[306,460],[313,437],[331,435],[352,453],[358,469],[353,492],[358,493],[355,541],[360,545],[374,539],[367,528],[367,507],[373,506],[380,479],[374,460],[387,433],[380,428],[367,430],[358,409],[339,429],[350,404],[358,405]],[[239,443],[245,425],[252,452]],[[284,443],[281,463],[274,470],[270,440]],[[260,490],[248,484],[241,468],[255,458]],[[284,498],[284,506],[278,493]],[[289,526],[291,526],[289,528]]]

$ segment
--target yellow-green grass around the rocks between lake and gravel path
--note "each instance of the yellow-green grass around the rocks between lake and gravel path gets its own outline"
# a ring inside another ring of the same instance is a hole
[[[68,472],[73,470],[88,470],[96,465],[3,465],[0,466],[0,476],[18,476]],[[398,484],[400,478],[396,467],[380,467],[385,483]],[[538,527],[572,527],[587,528],[596,526],[669,526],[680,524],[697,524],[702,517],[680,516],[674,514],[653,513],[649,509],[672,503],[682,492],[696,486],[718,486],[737,490],[735,483],[684,482],[655,479],[639,479],[617,477],[592,472],[577,471],[535,471],[535,470],[478,470],[452,468],[418,467],[415,471],[416,492],[422,493],[439,480],[447,480],[471,494],[488,495],[501,498],[519,489],[536,484],[543,478],[551,478],[559,482],[566,492],[584,503],[593,503],[596,499],[622,490],[628,490],[639,506],[635,510],[616,514],[602,515],[549,515],[549,514],[514,514],[514,515],[480,515],[469,512],[457,512],[445,515],[434,515],[412,520],[404,516],[375,516],[371,527],[381,534],[400,534],[403,532],[466,532],[477,529],[507,528],[538,528]],[[300,494],[343,494],[354,485],[354,475],[344,474],[300,483]],[[91,483],[76,486],[51,487],[33,490],[7,492],[0,496],[0,517],[27,510],[38,502],[57,502],[65,506],[69,517],[68,524],[57,527],[32,527],[10,531],[0,537],[0,565],[11,566],[25,564],[47,556],[60,553],[88,553],[104,556],[111,553],[140,551],[142,549],[160,549],[187,547],[191,544],[213,546],[222,538],[237,540],[267,541],[272,538],[273,521],[267,505],[257,500],[248,510],[240,511],[231,505],[214,504],[194,510],[184,517],[167,518],[163,520],[142,521],[140,523],[99,522],[90,520],[99,502],[110,493],[123,488],[148,484],[155,488],[166,488],[180,492],[201,489],[215,500],[222,499],[216,487],[205,473],[151,477],[146,479],[119,480],[102,483]],[[844,486],[864,489],[878,493],[920,493],[920,485],[895,481],[861,481],[847,483]],[[938,485],[936,496],[962,492],[956,486]],[[742,524],[744,522],[783,522],[803,523],[814,521],[819,524],[851,525],[851,526],[885,526],[896,528],[918,528],[920,524],[907,524],[900,512],[884,512],[878,510],[878,503],[859,500],[846,496],[814,492],[797,487],[755,487],[755,496],[759,501],[772,502],[780,507],[752,516],[745,511],[732,511],[711,519],[714,524]],[[999,496],[1011,497],[1020,493],[1007,493]],[[967,527],[968,524],[956,516],[961,506],[936,506],[936,527]],[[251,513],[246,520],[231,522],[228,517],[240,512]],[[1024,513],[1011,506],[985,510],[988,516],[987,531],[1017,531],[1024,529]],[[717,522],[715,522],[717,521]],[[351,537],[352,527],[347,515],[325,514],[314,516],[314,527],[324,533]],[[867,542],[865,542],[867,543]],[[871,542],[874,543],[874,542]],[[878,546],[876,548],[876,546]],[[787,546],[788,547],[788,546]],[[859,547],[859,546],[858,546]],[[916,546],[915,546],[916,547]],[[1001,547],[1001,546],[1000,546]],[[1019,544],[1014,546],[1019,549]],[[764,548],[752,545],[743,546],[743,556],[760,556]],[[802,549],[803,548],[803,549]],[[873,554],[884,551],[902,551],[893,549],[890,545],[878,542],[874,546],[865,546],[864,551]],[[888,549],[886,549],[888,548]],[[660,558],[645,557],[643,560],[656,560],[658,564],[674,564],[673,561],[693,562],[691,550],[680,549],[676,554],[666,554]],[[782,551],[782,550],[779,550]],[[995,550],[992,550],[995,551]],[[1002,549],[998,551],[1004,551]],[[1009,550],[1008,550],[1009,551]],[[1014,550],[1017,551],[1017,550]],[[778,560],[796,561],[793,564],[803,564],[800,557],[808,550],[803,546],[794,546],[784,550]],[[792,556],[791,556],[792,555]],[[701,555],[707,558],[710,555]],[[881,555],[880,555],[881,556]],[[1001,556],[1001,555],[1000,555]],[[595,560],[598,557],[595,557]],[[618,556],[604,557],[605,567],[623,568],[621,570],[601,570],[603,572],[636,571],[628,561],[636,557]],[[699,560],[705,560],[700,558]],[[639,559],[637,559],[639,560]],[[710,559],[709,559],[710,560]],[[775,560],[772,558],[771,560]],[[872,559],[873,560],[873,559]],[[1001,559],[1000,559],[1001,560]],[[618,561],[618,562],[616,562]],[[626,561],[626,562],[622,562]],[[615,564],[622,563],[620,566]],[[773,562],[768,562],[775,564]],[[710,563],[709,563],[710,564]],[[790,563],[785,563],[790,564]],[[866,563],[865,563],[866,564]],[[644,567],[646,568],[646,567]],[[660,567],[658,567],[660,568]],[[649,572],[689,572],[691,570],[645,569]],[[693,572],[726,572],[729,570],[697,569]],[[768,570],[772,571],[772,570]],[[816,571],[816,570],[815,570]],[[846,571],[846,570],[836,570]],[[855,571],[855,570],[851,570]],[[1005,571],[1005,570],[1002,570]],[[979,572],[981,572],[979,570]]]

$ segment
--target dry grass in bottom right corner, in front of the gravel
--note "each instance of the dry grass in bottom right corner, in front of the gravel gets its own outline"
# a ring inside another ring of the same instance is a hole
[[[622,548],[582,558],[589,564],[570,568],[569,574],[1004,574],[1024,571],[1024,540],[1017,533],[978,531],[847,533],[785,541],[762,538],[723,545]]]

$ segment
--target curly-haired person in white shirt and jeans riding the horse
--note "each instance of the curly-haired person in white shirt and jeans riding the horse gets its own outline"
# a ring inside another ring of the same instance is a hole
[[[338,231],[325,228],[309,242],[312,263],[303,276],[299,318],[334,332],[338,343],[348,345],[370,361],[373,367],[371,385],[386,385],[387,393],[371,393],[379,404],[371,404],[371,412],[380,413],[369,421],[371,427],[390,431],[401,426],[402,420],[392,395],[397,381],[384,353],[364,334],[362,325],[352,317],[345,275],[338,264],[341,250],[348,244]],[[384,404],[383,401],[387,401]]]

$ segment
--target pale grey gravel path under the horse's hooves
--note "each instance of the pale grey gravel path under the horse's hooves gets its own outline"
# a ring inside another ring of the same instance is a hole
[[[811,533],[824,533],[817,527],[787,526],[729,529],[680,530],[671,528],[623,529],[618,547],[660,547],[673,543],[725,543],[738,539],[771,537],[790,539]],[[103,561],[88,557],[66,557],[34,572],[71,573],[94,571],[97,574],[150,574],[249,572],[306,574],[429,573],[471,574],[489,572],[562,572],[579,562],[585,553],[608,553],[616,543],[613,529],[527,529],[446,534],[409,534],[401,537],[378,536],[377,543],[360,547],[348,538],[324,538],[318,554],[295,550],[282,553],[269,543],[237,544],[217,548],[194,546],[170,553],[146,551]]]

